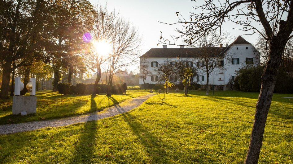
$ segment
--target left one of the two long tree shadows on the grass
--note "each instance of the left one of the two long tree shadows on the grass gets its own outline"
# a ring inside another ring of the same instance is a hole
[[[97,106],[91,97],[91,108]],[[97,121],[85,122],[79,139],[74,143],[75,153],[70,163],[93,163]]]

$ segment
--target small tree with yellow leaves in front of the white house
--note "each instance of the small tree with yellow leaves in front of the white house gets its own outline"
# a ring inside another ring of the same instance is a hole
[[[175,74],[178,75],[182,81],[185,91],[184,94],[187,95],[188,86],[190,86],[193,77],[197,75],[197,70],[193,67],[193,61],[179,58],[179,56],[177,59],[178,61],[175,62]]]

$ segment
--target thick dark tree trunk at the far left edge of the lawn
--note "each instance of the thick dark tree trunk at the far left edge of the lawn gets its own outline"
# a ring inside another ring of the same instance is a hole
[[[2,85],[1,85],[1,91],[0,91],[0,97],[2,99],[8,99],[10,73],[11,73],[11,62],[6,62],[3,68]]]

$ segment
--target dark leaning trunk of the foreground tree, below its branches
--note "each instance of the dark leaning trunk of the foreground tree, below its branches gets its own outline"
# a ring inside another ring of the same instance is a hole
[[[270,47],[269,60],[265,66],[264,74],[261,76],[262,83],[260,95],[256,103],[256,113],[250,135],[249,148],[245,159],[245,163],[247,164],[258,162],[265,131],[265,123],[269,113],[285,43],[286,42],[282,42],[281,39],[275,38]]]

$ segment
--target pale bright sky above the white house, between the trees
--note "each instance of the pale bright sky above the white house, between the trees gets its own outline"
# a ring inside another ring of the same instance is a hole
[[[90,0],[93,5],[101,4],[105,6],[109,11],[116,10],[122,18],[129,20],[134,27],[138,29],[139,34],[142,36],[141,54],[143,55],[146,51],[151,48],[162,48],[162,44],[157,46],[160,39],[160,31],[166,38],[170,35],[178,35],[175,31],[176,26],[167,25],[164,23],[175,23],[178,18],[175,14],[177,11],[183,16],[188,17],[190,12],[195,11],[193,6],[196,2],[190,0]],[[258,38],[257,34],[245,35],[245,31],[235,30],[232,28],[237,27],[234,23],[226,23],[223,25],[224,31],[229,31],[231,36],[235,38],[242,35],[251,44],[256,43]],[[233,42],[233,40],[231,41]],[[180,40],[178,40],[180,44]],[[225,45],[225,43],[223,43]],[[179,47],[167,45],[168,47]],[[135,70],[138,72],[138,64],[129,66],[127,69]]]

